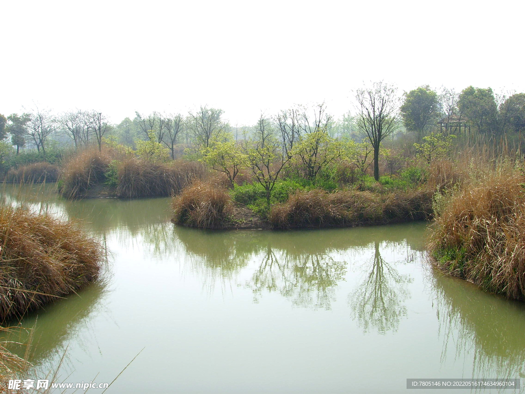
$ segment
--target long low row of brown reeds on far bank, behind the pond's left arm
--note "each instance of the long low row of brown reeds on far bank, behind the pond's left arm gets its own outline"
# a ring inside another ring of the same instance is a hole
[[[169,196],[180,192],[193,179],[202,178],[204,173],[200,163],[127,159],[118,166],[117,195],[128,199]]]

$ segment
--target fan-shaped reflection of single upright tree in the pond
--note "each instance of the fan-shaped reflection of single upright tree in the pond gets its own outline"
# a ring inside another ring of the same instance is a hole
[[[364,281],[349,296],[352,315],[365,333],[372,328],[380,334],[396,332],[401,319],[407,315],[403,305],[409,298],[409,275],[398,273],[393,264],[381,257],[380,243],[374,242],[374,257],[371,266],[362,266],[366,271]]]

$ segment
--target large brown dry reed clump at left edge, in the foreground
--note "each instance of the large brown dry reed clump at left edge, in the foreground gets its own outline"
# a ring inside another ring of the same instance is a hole
[[[102,257],[74,223],[0,206],[0,322],[93,281]]]

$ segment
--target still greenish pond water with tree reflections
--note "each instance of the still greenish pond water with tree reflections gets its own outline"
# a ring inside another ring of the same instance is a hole
[[[80,219],[108,251],[101,281],[22,321],[35,327],[31,361],[60,365],[59,381],[111,382],[139,353],[108,392],[380,393],[406,392],[407,378],[525,377],[525,306],[430,268],[427,223],[211,232],[170,223],[169,199],[3,187],[8,203]]]

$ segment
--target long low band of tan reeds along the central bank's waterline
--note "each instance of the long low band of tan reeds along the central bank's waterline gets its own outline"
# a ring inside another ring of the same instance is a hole
[[[172,221],[206,229],[299,229],[387,224],[428,219],[432,215],[434,190],[430,189],[330,193],[322,189],[293,189],[293,184],[282,182],[272,196],[274,203],[268,207],[254,184],[228,192],[214,182],[196,182],[173,199]],[[283,202],[278,202],[278,198]],[[250,221],[253,225],[243,227]]]

